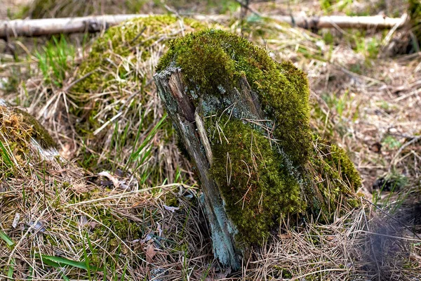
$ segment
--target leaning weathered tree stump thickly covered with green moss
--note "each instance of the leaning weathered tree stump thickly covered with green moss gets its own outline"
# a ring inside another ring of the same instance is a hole
[[[309,130],[306,75],[220,30],[173,41],[154,76],[196,167],[215,257],[238,269],[282,218],[354,204],[352,162]],[[342,204],[342,203],[340,203]]]

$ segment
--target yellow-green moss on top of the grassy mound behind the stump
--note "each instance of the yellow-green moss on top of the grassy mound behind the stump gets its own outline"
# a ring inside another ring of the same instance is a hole
[[[107,68],[112,67],[113,64],[119,65],[121,58],[131,57],[131,62],[136,63],[138,56],[133,55],[136,53],[136,47],[140,48],[142,60],[149,58],[148,47],[160,39],[159,37],[165,36],[166,28],[178,20],[172,15],[158,15],[128,20],[122,25],[109,28],[93,44],[88,58],[83,60],[79,67],[78,76],[81,78],[86,74],[93,73],[76,84],[72,90],[78,93],[90,93],[105,89],[109,84],[123,83],[123,81],[116,81],[112,72],[106,71]],[[194,20],[185,19],[183,21],[185,25],[195,29],[204,28],[204,25]],[[148,28],[147,34],[145,34],[145,28]],[[151,34],[153,35],[151,36]],[[118,70],[121,79],[128,78],[129,72],[124,67],[119,67]],[[140,77],[134,78],[140,79]]]

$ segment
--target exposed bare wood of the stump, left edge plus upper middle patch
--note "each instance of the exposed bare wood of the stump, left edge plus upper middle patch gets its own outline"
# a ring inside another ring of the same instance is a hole
[[[168,116],[196,167],[203,190],[203,203],[210,224],[215,258],[223,265],[238,270],[243,249],[238,248],[236,228],[227,216],[218,184],[209,174],[213,154],[203,126],[203,108],[195,107],[191,97],[187,96],[180,68],[168,67],[155,74],[154,80]],[[245,117],[262,119],[258,96],[251,91],[245,77],[241,79],[239,89],[234,88],[225,93],[225,98],[229,103],[235,103],[236,108],[241,110]],[[197,104],[206,104],[206,100],[198,100]],[[221,109],[224,106],[221,105]]]

